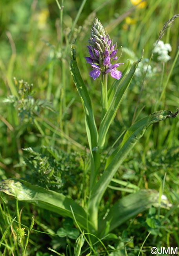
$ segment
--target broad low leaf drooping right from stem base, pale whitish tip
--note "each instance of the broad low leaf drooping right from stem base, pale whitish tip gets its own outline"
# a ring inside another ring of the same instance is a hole
[[[159,193],[152,189],[138,191],[137,193],[127,195],[119,199],[110,209],[105,219],[99,221],[99,235],[105,236],[105,228],[107,232],[111,232],[128,219],[136,216],[151,206],[169,208],[171,204],[166,197],[163,197],[159,203]]]

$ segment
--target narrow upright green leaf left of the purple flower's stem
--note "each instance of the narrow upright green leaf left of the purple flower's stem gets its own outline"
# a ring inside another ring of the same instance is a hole
[[[98,132],[97,132],[97,127],[96,127],[93,109],[91,105],[91,99],[89,97],[86,85],[84,84],[82,77],[80,75],[80,71],[78,69],[77,61],[76,61],[76,52],[73,45],[71,46],[70,71],[73,76],[73,81],[75,83],[75,86],[82,100],[82,104],[86,114],[86,132],[88,136],[89,148],[92,152],[92,149],[97,146]]]

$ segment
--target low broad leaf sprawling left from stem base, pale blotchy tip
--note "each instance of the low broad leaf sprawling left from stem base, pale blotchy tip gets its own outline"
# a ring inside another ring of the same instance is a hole
[[[91,223],[87,225],[87,215],[84,209],[77,204],[73,199],[68,198],[55,191],[44,189],[29,182],[20,179],[8,179],[0,182],[0,191],[7,195],[17,197],[20,201],[26,201],[37,205],[38,207],[58,213],[63,217],[70,217],[73,219],[70,206],[77,220],[77,223],[82,228],[86,229],[92,226]]]

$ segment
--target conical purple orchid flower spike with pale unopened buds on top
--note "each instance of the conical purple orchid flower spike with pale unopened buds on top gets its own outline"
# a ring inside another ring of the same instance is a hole
[[[89,56],[85,57],[86,63],[89,63],[92,67],[92,71],[89,72],[94,80],[99,77],[100,73],[110,75],[119,80],[122,76],[121,71],[116,68],[124,63],[111,64],[113,60],[117,59],[116,44],[113,45],[109,35],[105,33],[105,30],[96,18],[91,28],[91,38],[88,40],[87,46]]]

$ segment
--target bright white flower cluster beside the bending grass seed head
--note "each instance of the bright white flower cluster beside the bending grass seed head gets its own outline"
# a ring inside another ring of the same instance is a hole
[[[170,44],[164,44],[163,41],[159,41],[155,45],[155,48],[153,49],[153,53],[158,54],[157,59],[159,61],[167,62],[171,57],[168,55],[168,52],[172,51],[172,47]]]

